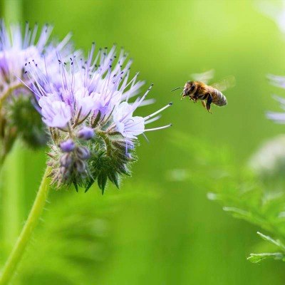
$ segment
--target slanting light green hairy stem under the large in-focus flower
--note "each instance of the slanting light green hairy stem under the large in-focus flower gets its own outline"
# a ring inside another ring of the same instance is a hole
[[[28,219],[21,231],[21,234],[12,250],[9,259],[6,261],[2,274],[0,276],[0,285],[9,284],[11,278],[14,276],[16,268],[23,257],[24,251],[31,239],[31,234],[33,229],[35,229],[38,224],[38,219],[41,217],[43,212],[43,207],[46,204],[46,198],[48,196],[49,179],[48,174],[50,172],[49,167],[46,167],[46,171],[41,180],[41,185],[38,189],[36,199],[33,202],[33,207],[31,208],[30,214],[28,214]]]

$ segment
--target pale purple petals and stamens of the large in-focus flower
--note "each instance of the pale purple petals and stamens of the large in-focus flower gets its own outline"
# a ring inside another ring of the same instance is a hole
[[[138,75],[128,83],[130,61],[123,67],[125,55],[121,53],[113,67],[115,48],[109,53],[99,51],[95,61],[92,60],[93,52],[94,46],[84,63],[77,58],[70,58],[68,63],[58,59],[60,85],[56,75],[48,76],[48,66],[46,73],[36,66],[33,67],[29,73],[31,81],[35,82],[31,90],[41,107],[43,120],[48,127],[64,128],[68,122],[76,126],[85,121],[92,123],[97,118],[97,123],[100,124],[105,125],[108,121],[111,125],[108,130],[117,130],[125,138],[136,138],[145,131],[145,124],[159,117],[149,119],[170,104],[146,118],[133,116],[135,110],[144,105],[150,88],[142,98],[128,103],[142,86],[141,81],[136,82]],[[98,61],[100,64],[97,66]],[[56,82],[53,78],[56,78]],[[59,104],[59,101],[66,106],[66,112],[63,112],[63,104]],[[56,104],[56,108],[53,108],[53,104]]]

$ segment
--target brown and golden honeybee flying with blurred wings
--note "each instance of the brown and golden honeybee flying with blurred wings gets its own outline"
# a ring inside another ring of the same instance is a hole
[[[183,88],[181,99],[189,96],[190,100],[193,100],[194,103],[196,103],[197,100],[201,100],[204,108],[206,108],[209,113],[212,113],[212,103],[218,106],[227,105],[227,98],[222,91],[230,86],[234,86],[234,77],[232,76],[225,78],[219,83],[212,84],[212,86],[207,85],[207,81],[213,77],[213,73],[213,71],[207,71],[205,73],[192,74],[192,77],[196,79],[195,81],[187,81],[184,87],[178,87],[172,91]]]

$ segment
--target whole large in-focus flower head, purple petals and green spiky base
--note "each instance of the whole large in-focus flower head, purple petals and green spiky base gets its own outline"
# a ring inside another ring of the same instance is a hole
[[[95,180],[102,190],[107,180],[118,187],[120,177],[130,175],[138,135],[170,126],[146,128],[171,103],[145,117],[134,115],[152,103],[145,100],[152,86],[137,97],[143,82],[138,73],[129,80],[131,61],[123,51],[118,58],[115,47],[100,49],[96,56],[94,51],[93,44],[86,61],[73,55],[65,62],[58,54],[53,73],[48,65],[43,72],[36,61],[28,70],[30,89],[53,140],[48,163],[58,187],[73,184],[76,190],[78,185],[88,190]],[[74,143],[71,152],[63,149],[66,142]]]

